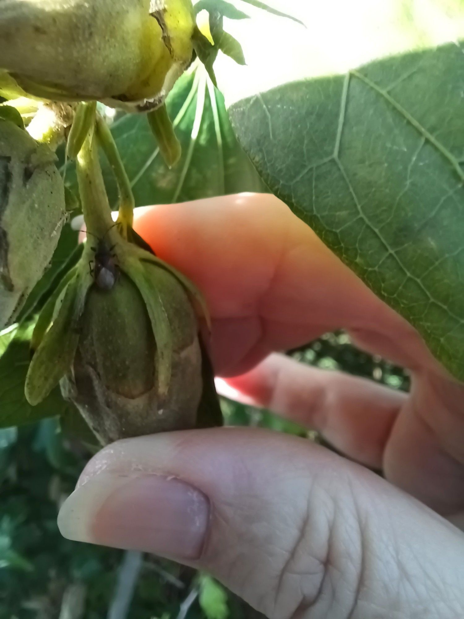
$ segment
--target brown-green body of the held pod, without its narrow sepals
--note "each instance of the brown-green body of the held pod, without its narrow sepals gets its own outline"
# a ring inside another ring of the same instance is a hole
[[[147,264],[160,306],[168,316],[171,373],[160,384],[160,360],[145,301],[131,279],[94,285],[82,316],[74,362],[61,381],[103,444],[120,438],[193,428],[202,394],[197,321],[183,287],[165,269]]]

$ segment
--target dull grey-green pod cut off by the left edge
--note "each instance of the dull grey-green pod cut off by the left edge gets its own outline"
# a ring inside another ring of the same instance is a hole
[[[55,162],[48,146],[0,119],[0,328],[43,275],[66,220]]]

